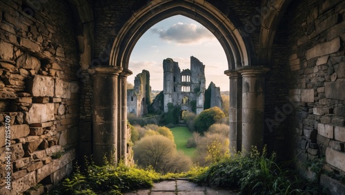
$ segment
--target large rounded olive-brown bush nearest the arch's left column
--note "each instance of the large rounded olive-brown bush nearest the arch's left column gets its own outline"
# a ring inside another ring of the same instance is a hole
[[[161,173],[186,171],[192,164],[188,157],[177,153],[174,141],[162,135],[141,138],[133,151],[140,167],[152,166]]]

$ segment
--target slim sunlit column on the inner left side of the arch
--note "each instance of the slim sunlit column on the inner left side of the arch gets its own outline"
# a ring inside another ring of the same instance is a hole
[[[119,130],[119,157],[127,164],[127,76],[130,76],[132,71],[124,70],[119,75],[119,83],[121,84],[121,130]]]

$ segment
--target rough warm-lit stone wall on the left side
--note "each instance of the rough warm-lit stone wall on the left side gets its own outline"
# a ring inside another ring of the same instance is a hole
[[[56,184],[72,172],[76,153],[79,65],[70,6],[25,2],[0,1],[0,194]]]

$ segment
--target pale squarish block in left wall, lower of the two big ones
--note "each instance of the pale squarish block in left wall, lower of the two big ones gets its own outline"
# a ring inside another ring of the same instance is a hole
[[[30,124],[54,121],[54,103],[32,103],[29,110]]]

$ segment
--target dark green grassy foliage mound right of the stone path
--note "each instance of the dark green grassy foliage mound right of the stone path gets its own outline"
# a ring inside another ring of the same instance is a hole
[[[241,189],[240,194],[304,194],[293,172],[279,166],[273,153],[267,157],[253,147],[250,155],[241,153],[221,159],[210,165],[206,172],[196,176],[197,183],[221,188]]]

